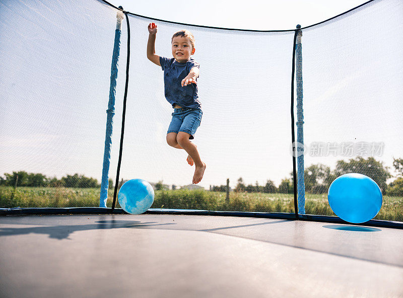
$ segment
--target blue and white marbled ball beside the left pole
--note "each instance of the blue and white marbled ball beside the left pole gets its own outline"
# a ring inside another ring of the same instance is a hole
[[[131,179],[123,183],[117,195],[120,207],[131,214],[146,212],[154,202],[154,189],[143,179]]]

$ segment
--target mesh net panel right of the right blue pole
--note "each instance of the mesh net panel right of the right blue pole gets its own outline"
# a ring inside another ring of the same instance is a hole
[[[361,173],[381,188],[389,219],[403,220],[403,184],[390,186],[403,146],[402,12],[401,2],[372,2],[303,30],[307,213],[336,177]]]

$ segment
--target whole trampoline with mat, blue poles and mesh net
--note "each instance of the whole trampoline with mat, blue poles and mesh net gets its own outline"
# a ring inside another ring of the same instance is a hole
[[[150,22],[161,56],[195,36],[205,190],[165,143]],[[399,0],[291,30],[1,3],[0,296],[402,297],[402,26]],[[327,203],[351,172],[383,194],[360,224]],[[144,214],[116,205],[133,178],[159,181]]]

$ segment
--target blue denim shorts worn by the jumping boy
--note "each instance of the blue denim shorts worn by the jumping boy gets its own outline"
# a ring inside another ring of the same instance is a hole
[[[199,108],[174,109],[167,133],[183,131],[190,134],[189,139],[193,139],[194,133],[200,125],[201,115],[203,115],[203,111]]]

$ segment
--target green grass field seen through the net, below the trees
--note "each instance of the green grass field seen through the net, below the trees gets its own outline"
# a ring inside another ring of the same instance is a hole
[[[12,207],[98,207],[99,188],[0,187],[0,208]],[[203,209],[220,211],[294,212],[294,195],[282,193],[224,192],[204,190],[157,190],[152,208]],[[113,189],[108,191],[111,207]],[[119,205],[117,203],[117,206]],[[326,194],[306,194],[306,214],[331,215]],[[375,219],[403,221],[403,197],[383,196]]]

